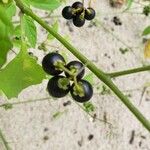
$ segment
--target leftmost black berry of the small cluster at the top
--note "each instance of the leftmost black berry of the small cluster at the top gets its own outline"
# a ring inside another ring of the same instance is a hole
[[[72,19],[74,16],[73,13],[73,8],[71,6],[66,6],[63,10],[62,10],[62,16],[65,19]]]

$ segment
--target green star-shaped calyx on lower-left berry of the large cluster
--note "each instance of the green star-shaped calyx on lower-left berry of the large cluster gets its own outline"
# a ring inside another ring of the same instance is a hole
[[[58,80],[58,87],[60,89],[67,90],[69,84],[70,84],[70,82],[69,82],[69,79],[67,79],[67,78],[60,78]]]

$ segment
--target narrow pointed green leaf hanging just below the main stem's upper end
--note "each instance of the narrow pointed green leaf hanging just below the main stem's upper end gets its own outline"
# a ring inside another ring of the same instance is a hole
[[[23,28],[28,42],[31,44],[32,47],[35,47],[37,41],[37,31],[31,17],[28,17],[26,15],[23,16]]]

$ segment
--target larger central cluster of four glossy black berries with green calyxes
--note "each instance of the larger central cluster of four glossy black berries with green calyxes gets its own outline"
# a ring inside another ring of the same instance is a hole
[[[71,61],[66,64],[62,55],[52,52],[43,58],[42,67],[46,73],[53,76],[47,85],[51,96],[61,98],[70,92],[77,102],[86,102],[91,99],[93,88],[88,81],[82,79],[85,68],[81,62]],[[65,76],[60,75],[62,72]]]

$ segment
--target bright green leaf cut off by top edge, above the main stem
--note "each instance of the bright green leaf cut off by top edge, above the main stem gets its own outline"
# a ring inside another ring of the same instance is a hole
[[[61,5],[61,3],[57,0],[29,0],[29,3],[33,7],[49,11],[55,10]]]

